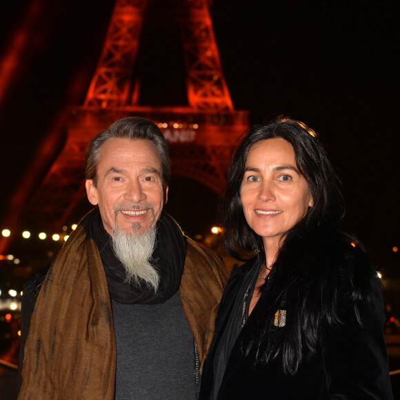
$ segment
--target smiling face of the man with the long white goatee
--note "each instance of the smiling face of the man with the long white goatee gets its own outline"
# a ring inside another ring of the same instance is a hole
[[[158,221],[168,194],[157,148],[143,139],[108,139],[99,154],[97,188],[88,179],[86,192],[90,203],[99,205],[109,234],[116,223],[125,232],[148,230]]]

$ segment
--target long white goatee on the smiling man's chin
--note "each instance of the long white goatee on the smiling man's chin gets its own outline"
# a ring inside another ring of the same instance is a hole
[[[139,232],[140,223],[133,223],[132,229],[126,232],[119,229],[117,223],[112,230],[112,248],[117,259],[126,270],[126,283],[139,283],[140,279],[157,292],[159,274],[151,265],[152,253],[156,245],[156,228],[152,226]]]

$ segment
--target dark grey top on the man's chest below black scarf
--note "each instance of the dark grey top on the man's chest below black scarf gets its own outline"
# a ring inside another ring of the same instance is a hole
[[[194,340],[179,290],[159,304],[112,300],[117,340],[115,399],[196,398]]]

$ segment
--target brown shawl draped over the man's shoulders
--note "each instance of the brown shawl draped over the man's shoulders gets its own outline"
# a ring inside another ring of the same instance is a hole
[[[226,284],[223,262],[188,239],[181,302],[201,366]],[[114,399],[117,350],[106,274],[78,226],[50,268],[32,314],[18,399]]]

